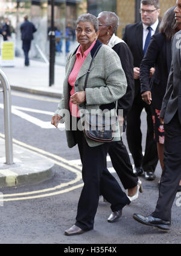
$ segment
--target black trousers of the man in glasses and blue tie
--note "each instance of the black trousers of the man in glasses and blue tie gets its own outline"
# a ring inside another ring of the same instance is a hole
[[[147,112],[147,139],[145,145],[145,154],[142,155],[142,133],[141,133],[141,112],[145,108]],[[135,167],[140,167],[144,171],[151,170],[154,172],[156,169],[158,156],[156,142],[153,140],[154,129],[153,120],[151,115],[151,108],[148,104],[144,103],[141,95],[137,95],[132,109],[127,114],[127,142],[129,144],[130,152],[135,163]]]

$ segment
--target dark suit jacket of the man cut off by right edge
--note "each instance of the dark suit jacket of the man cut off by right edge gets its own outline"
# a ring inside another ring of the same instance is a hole
[[[179,111],[179,121],[181,123],[181,56],[180,56],[181,30],[174,35],[172,42],[172,63],[168,76],[167,90],[162,102],[160,117],[164,118],[164,123],[168,124],[177,110]]]

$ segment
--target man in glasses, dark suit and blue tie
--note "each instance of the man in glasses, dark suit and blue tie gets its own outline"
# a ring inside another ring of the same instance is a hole
[[[156,143],[153,140],[153,121],[151,109],[141,98],[139,66],[147,50],[150,38],[154,33],[159,32],[160,13],[159,0],[141,1],[141,22],[130,24],[125,27],[123,40],[129,45],[134,58],[135,78],[135,99],[130,112],[127,114],[127,141],[130,152],[135,162],[135,169],[138,175],[145,172],[147,180],[154,180],[154,170],[158,161]],[[153,75],[153,69],[150,69]],[[147,139],[145,154],[142,155],[142,133],[141,133],[141,112],[145,108],[147,112]]]

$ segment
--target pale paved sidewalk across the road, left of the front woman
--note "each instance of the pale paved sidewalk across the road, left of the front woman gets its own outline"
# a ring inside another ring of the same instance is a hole
[[[62,97],[65,66],[55,65],[54,85],[49,87],[49,65],[45,62],[30,61],[24,66],[23,58],[14,59],[14,67],[1,67],[10,81],[11,89],[39,95]]]

